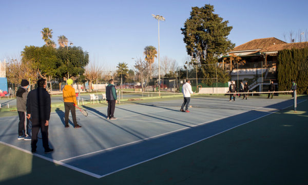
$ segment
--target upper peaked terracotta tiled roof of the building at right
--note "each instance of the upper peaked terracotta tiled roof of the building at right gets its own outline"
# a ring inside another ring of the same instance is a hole
[[[283,44],[283,43],[286,43],[286,42],[279,40],[275,37],[259,38],[259,39],[254,39],[249,42],[243,43],[235,47],[230,52],[245,51],[245,50],[262,50],[274,44],[276,45],[276,44]]]

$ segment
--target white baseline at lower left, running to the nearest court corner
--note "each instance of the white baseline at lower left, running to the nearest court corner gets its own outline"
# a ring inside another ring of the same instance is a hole
[[[30,151],[28,151],[28,150],[22,149],[22,148],[20,148],[20,147],[16,147],[16,146],[14,146],[14,145],[10,145],[10,144],[8,144],[8,143],[4,143],[4,142],[2,142],[2,141],[0,141],[0,143],[3,144],[3,145],[6,145],[6,146],[8,146],[8,147],[12,147],[12,148],[14,148],[14,149],[23,151],[23,152],[28,153],[28,154],[31,154],[31,155],[34,155],[34,156],[36,156],[36,157],[40,157],[40,158],[42,158],[42,159],[48,160],[48,161],[50,161],[51,163],[55,163],[55,164],[57,164],[57,165],[61,165],[61,166],[70,168],[70,169],[72,169],[72,170],[75,170],[75,171],[78,171],[78,172],[81,172],[81,173],[90,175],[90,176],[92,176],[92,177],[101,178],[101,175],[98,175],[98,174],[95,174],[95,173],[91,173],[91,172],[88,172],[88,171],[83,170],[83,169],[80,169],[80,168],[76,168],[76,167],[74,167],[74,166],[71,166],[71,165],[62,163],[61,161],[57,161],[57,160],[54,160],[54,159],[52,159],[52,158],[45,157],[45,156],[40,155],[40,154],[37,154],[37,153],[32,154],[32,152],[30,152]]]

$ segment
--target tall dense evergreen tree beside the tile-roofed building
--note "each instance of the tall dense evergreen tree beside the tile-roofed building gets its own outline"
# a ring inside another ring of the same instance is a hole
[[[190,17],[181,28],[186,43],[186,51],[192,57],[192,62],[201,65],[203,78],[215,78],[218,57],[233,49],[235,44],[227,36],[232,30],[227,26],[228,21],[214,13],[214,6],[192,7]],[[218,76],[224,78],[221,82],[229,79],[228,74],[218,69]]]

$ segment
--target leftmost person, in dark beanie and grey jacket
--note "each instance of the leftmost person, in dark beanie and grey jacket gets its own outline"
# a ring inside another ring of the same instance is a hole
[[[31,122],[27,119],[27,96],[28,96],[29,82],[22,79],[21,86],[16,92],[16,106],[19,117],[18,123],[18,140],[31,140]],[[26,129],[27,128],[27,129]]]

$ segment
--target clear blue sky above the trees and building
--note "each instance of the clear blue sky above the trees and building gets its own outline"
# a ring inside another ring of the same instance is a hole
[[[284,41],[283,33],[308,29],[305,0],[1,1],[0,60],[20,56],[25,45],[44,45],[40,32],[48,27],[56,43],[65,35],[89,52],[91,61],[108,68],[126,62],[132,68],[131,58],[144,58],[147,45],[158,48],[158,21],[151,16],[158,14],[166,18],[160,22],[160,56],[182,65],[187,54],[180,29],[191,7],[205,4],[233,26],[228,38],[236,45],[266,37]]]

